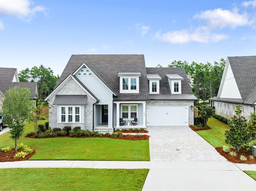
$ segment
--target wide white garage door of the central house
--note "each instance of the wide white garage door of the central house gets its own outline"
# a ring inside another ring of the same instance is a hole
[[[188,125],[188,106],[148,105],[146,112],[147,126]]]

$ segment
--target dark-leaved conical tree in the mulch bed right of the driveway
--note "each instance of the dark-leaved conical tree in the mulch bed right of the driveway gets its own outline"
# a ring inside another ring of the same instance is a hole
[[[239,152],[239,150],[249,147],[252,135],[248,132],[246,118],[242,116],[242,105],[236,105],[235,107],[236,115],[228,120],[230,130],[225,133],[225,142],[236,148]]]

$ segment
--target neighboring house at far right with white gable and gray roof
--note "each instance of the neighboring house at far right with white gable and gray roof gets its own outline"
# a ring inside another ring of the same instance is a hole
[[[231,118],[235,105],[242,105],[242,114],[248,119],[255,112],[256,104],[256,56],[228,57],[222,75],[218,95],[210,98],[216,114]]]

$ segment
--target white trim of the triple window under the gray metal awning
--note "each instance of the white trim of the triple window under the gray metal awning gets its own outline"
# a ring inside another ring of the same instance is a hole
[[[61,116],[62,116],[62,110],[61,108],[65,107],[66,108],[66,122],[62,122]],[[72,122],[68,122],[68,108],[72,107]],[[76,107],[79,107],[79,122],[76,122]],[[81,105],[59,105],[59,118],[58,118],[59,123],[75,123],[79,124],[82,123],[82,106]]]

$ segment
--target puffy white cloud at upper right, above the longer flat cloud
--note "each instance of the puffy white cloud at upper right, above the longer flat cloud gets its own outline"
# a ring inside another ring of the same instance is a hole
[[[248,14],[238,14],[236,11],[222,10],[220,8],[214,10],[207,10],[200,14],[196,14],[194,18],[202,19],[206,25],[212,29],[222,29],[230,27],[232,29],[238,26],[251,25]]]

